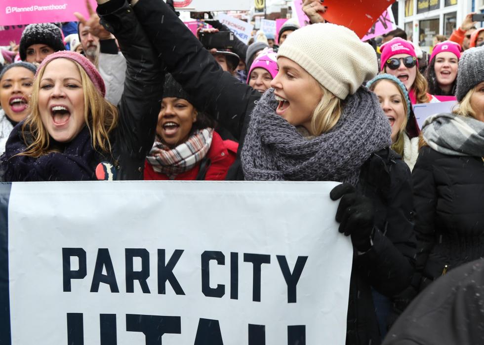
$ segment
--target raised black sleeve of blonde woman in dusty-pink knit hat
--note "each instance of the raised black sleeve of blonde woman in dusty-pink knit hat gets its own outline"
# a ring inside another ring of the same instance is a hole
[[[163,66],[132,8],[125,0],[97,7],[103,26],[118,39],[126,59],[124,91],[118,105],[114,153],[121,161],[122,179],[143,179],[144,159],[155,140],[163,91]]]

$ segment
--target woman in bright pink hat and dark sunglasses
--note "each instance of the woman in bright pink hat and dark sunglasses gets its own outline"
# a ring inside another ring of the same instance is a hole
[[[395,37],[382,44],[380,73],[397,77],[405,85],[412,104],[439,102],[427,93],[427,80],[418,71],[415,48],[410,41]]]

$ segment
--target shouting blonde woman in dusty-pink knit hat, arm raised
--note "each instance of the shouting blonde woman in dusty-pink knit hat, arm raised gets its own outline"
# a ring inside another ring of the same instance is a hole
[[[164,74],[128,3],[114,2],[97,12],[126,58],[118,107],[106,101],[104,81],[83,55],[48,55],[34,79],[30,115],[13,129],[0,158],[3,181],[143,179]]]

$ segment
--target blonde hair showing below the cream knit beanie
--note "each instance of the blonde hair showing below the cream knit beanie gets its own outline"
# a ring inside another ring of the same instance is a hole
[[[330,131],[338,123],[342,108],[341,100],[338,97],[323,85],[319,84],[319,86],[323,96],[311,117],[311,130],[316,136]]]

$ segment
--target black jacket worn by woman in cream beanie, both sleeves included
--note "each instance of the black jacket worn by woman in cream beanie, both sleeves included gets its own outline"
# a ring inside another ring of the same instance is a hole
[[[224,73],[164,2],[140,0],[133,8],[167,70],[193,97],[198,109],[212,115],[240,139],[240,153],[250,113],[260,93]],[[243,180],[242,169],[235,167],[235,177]],[[377,345],[380,335],[371,287],[391,297],[408,286],[413,273],[410,171],[398,154],[383,150],[364,164],[358,188],[374,200],[375,226],[379,230],[375,232],[373,247],[354,257],[347,344]]]

